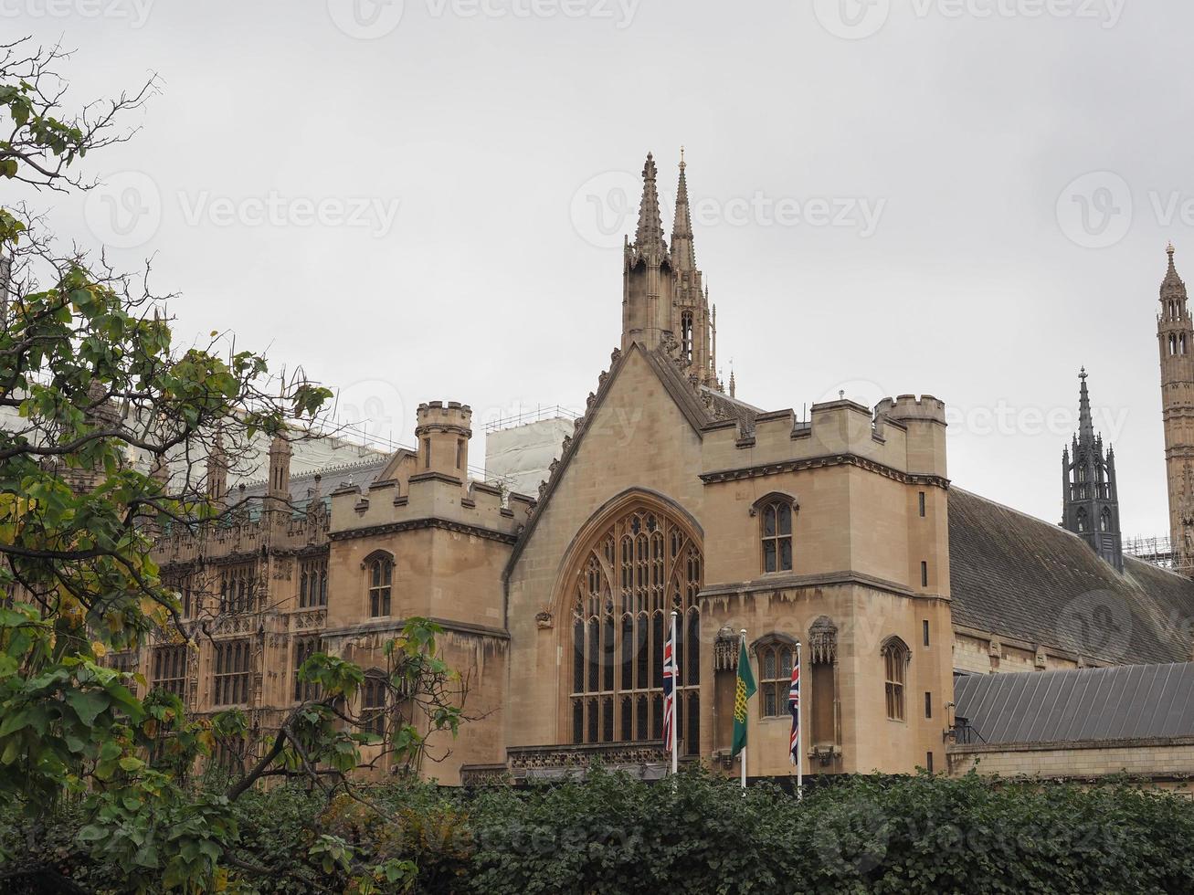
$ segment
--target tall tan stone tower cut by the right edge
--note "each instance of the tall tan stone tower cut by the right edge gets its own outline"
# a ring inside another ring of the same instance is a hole
[[[1161,348],[1161,406],[1165,425],[1165,473],[1169,480],[1169,536],[1175,568],[1194,569],[1194,322],[1187,308],[1186,284],[1174,265],[1161,284],[1157,342]]]

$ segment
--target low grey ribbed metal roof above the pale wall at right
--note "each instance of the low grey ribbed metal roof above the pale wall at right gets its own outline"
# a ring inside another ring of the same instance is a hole
[[[964,674],[954,702],[987,743],[1194,736],[1194,665]]]

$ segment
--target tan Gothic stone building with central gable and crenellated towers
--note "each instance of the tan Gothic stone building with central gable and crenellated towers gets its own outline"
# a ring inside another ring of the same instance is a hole
[[[419,407],[417,449],[321,474],[290,475],[278,439],[265,481],[215,495],[236,507],[233,524],[160,544],[197,647],[119,661],[193,712],[245,709],[260,736],[306,696],[295,675],[312,652],[383,667],[402,621],[431,617],[475,720],[432,743],[439,760],[423,773],[457,784],[550,777],[595,755],[659,773],[673,612],[681,752],[727,771],[747,631],[752,776],[792,773],[798,644],[811,774],[962,767],[956,674],[1190,659],[1194,582],[1122,557],[1114,456],[1085,378],[1064,459],[1070,530],[954,487],[946,408],[930,395],[842,397],[802,420],[755,407],[716,376],[683,160],[670,241],[657,178],[648,155],[618,347],[536,495],[470,480],[472,414],[455,402]],[[1173,477],[1194,376],[1173,264],[1165,282]],[[362,708],[383,718],[367,686]]]

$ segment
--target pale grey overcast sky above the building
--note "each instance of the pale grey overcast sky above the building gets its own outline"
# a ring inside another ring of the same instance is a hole
[[[378,434],[435,399],[583,408],[644,156],[670,196],[683,144],[739,397],[934,394],[954,482],[1055,521],[1085,364],[1124,530],[1167,533],[1188,1],[0,0],[0,27],[76,48],[80,100],[160,76],[86,160],[105,190],[33,198],[57,230],[155,254],[184,334],[235,329]]]

